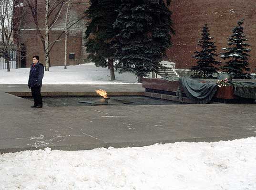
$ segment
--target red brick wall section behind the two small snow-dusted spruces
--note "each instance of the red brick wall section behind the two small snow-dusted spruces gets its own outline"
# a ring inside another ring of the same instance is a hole
[[[256,68],[256,0],[173,0],[172,19],[176,35],[173,47],[167,51],[168,60],[176,63],[176,68],[190,68],[195,65],[191,56],[201,38],[201,29],[208,24],[214,37],[217,52],[227,47],[228,37],[240,19],[244,21],[244,32],[251,45],[250,67]],[[220,61],[221,60],[219,58]]]

